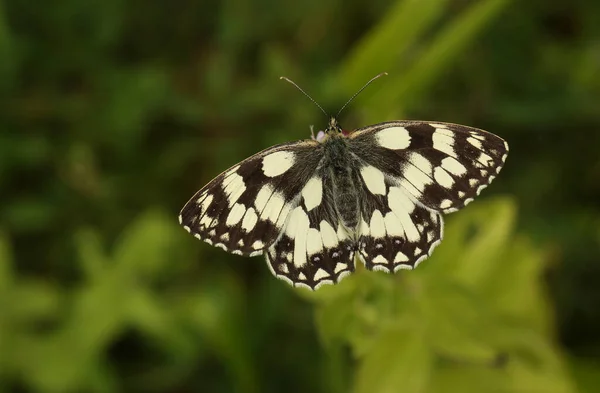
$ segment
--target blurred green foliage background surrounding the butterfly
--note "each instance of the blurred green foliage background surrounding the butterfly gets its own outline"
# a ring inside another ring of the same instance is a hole
[[[316,293],[177,225],[327,119],[511,147],[419,269]],[[0,2],[0,392],[600,391],[600,2]]]

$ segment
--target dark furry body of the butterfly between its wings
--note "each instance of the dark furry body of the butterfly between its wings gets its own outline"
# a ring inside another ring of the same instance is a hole
[[[329,131],[329,130],[328,130]],[[340,133],[330,133],[323,142],[326,176],[331,179],[333,201],[342,223],[349,230],[356,228],[359,220],[359,201],[356,192],[356,159],[347,147],[347,138]]]

